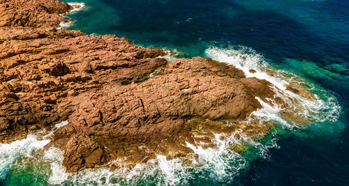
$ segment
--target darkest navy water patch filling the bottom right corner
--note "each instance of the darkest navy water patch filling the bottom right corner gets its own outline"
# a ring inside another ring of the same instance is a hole
[[[269,160],[252,162],[233,185],[348,185],[344,141],[348,137],[281,138],[281,148],[271,150]]]

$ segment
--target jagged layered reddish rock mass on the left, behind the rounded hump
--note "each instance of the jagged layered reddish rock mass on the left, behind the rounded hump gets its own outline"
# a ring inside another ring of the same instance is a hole
[[[110,82],[137,82],[166,63],[154,59],[164,54],[161,49],[136,47],[126,38],[55,29],[65,21],[58,13],[70,10],[66,3],[1,1],[0,5],[5,8],[0,22],[7,22],[0,26],[1,141],[66,120],[73,106],[80,104],[70,99],[75,95]],[[25,18],[30,24],[13,21],[24,19],[25,13],[33,14]]]

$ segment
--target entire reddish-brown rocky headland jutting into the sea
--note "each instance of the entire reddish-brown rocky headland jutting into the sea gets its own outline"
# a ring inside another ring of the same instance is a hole
[[[255,138],[273,126],[239,122],[262,108],[255,97],[274,99],[266,80],[202,57],[167,61],[163,49],[126,38],[57,29],[71,9],[0,0],[1,143],[68,120],[46,148],[64,150],[63,165],[77,172],[120,158],[195,157],[187,141],[212,146],[214,133]]]

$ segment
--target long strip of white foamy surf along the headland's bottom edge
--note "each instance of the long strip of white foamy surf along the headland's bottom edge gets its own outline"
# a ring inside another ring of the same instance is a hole
[[[241,143],[232,135],[221,139],[223,134],[216,134],[214,143],[217,148],[202,148],[187,144],[189,148],[199,155],[199,159],[177,158],[167,160],[163,155],[157,155],[155,160],[147,164],[136,164],[129,167],[116,160],[113,163],[120,167],[110,171],[109,166],[95,169],[84,169],[77,174],[65,173],[64,167],[61,166],[62,152],[57,149],[50,149],[50,153],[45,153],[45,158],[52,163],[52,175],[49,183],[59,185],[62,183],[72,185],[142,185],[144,181],[155,185],[183,185],[195,175],[211,172],[212,179],[224,182],[237,176],[239,170],[246,167],[247,161],[239,153],[229,149],[232,144]],[[242,136],[245,142],[251,142],[248,137]],[[258,142],[250,144],[255,148],[261,146]],[[265,147],[261,148],[265,149]],[[46,155],[49,154],[49,155]],[[262,154],[262,153],[261,153]]]

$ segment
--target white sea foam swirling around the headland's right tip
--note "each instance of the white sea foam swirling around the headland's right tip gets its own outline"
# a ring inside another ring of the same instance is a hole
[[[287,109],[295,111],[299,116],[309,119],[311,122],[324,122],[324,121],[336,121],[339,118],[341,107],[336,98],[313,84],[304,82],[303,79],[285,72],[283,70],[274,70],[269,66],[263,56],[255,52],[253,49],[243,46],[230,47],[228,49],[209,47],[205,51],[205,54],[216,61],[225,62],[241,69],[246,74],[246,77],[256,77],[258,79],[265,79],[271,82],[272,88],[276,93],[275,96],[283,98],[285,102],[288,102],[290,106]],[[255,70],[255,73],[249,72],[249,70]],[[274,75],[269,75],[268,70],[272,70]],[[288,75],[291,78],[286,78],[284,75]],[[306,84],[313,91],[315,100],[309,100],[303,98],[300,95],[292,93],[292,91],[286,90],[286,86],[290,82],[295,84]],[[297,127],[295,123],[286,121],[285,118],[279,115],[282,109],[273,100],[269,100],[272,104],[263,102],[257,98],[263,108],[253,112],[251,116],[258,118],[265,118],[265,121],[277,121],[284,127]]]

